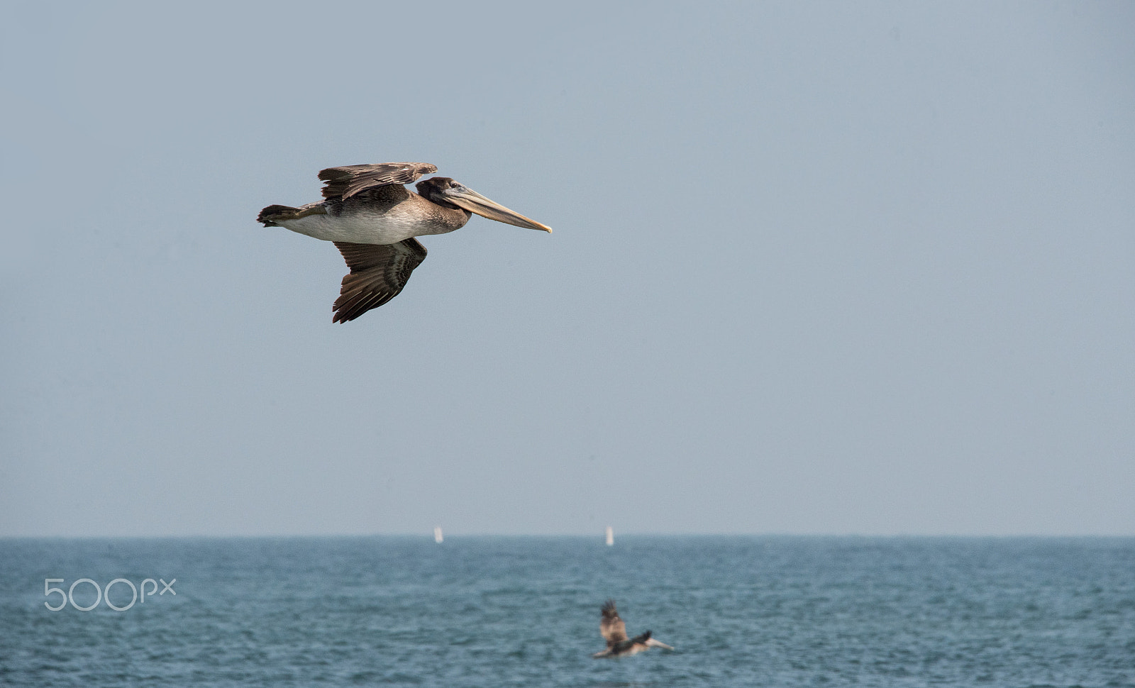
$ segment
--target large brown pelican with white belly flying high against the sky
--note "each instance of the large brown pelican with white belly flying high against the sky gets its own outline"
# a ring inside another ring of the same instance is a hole
[[[409,184],[437,171],[429,162],[380,162],[329,167],[319,173],[323,200],[306,205],[269,205],[257,221],[329,242],[347,261],[331,322],[354,320],[394,299],[426,260],[415,236],[462,228],[471,213],[529,229],[550,227],[486,199],[448,177]]]

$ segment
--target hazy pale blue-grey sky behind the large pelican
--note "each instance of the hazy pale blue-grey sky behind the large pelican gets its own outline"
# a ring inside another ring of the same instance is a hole
[[[0,536],[1135,535],[1130,2],[0,31]],[[333,325],[254,218],[397,160],[555,233]]]

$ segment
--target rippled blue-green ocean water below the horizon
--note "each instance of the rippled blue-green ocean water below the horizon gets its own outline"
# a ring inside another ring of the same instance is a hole
[[[0,683],[1135,686],[1135,539],[0,540]]]

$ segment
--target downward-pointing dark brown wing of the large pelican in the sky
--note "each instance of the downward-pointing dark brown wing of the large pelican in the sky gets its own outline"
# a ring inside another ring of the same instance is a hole
[[[426,246],[410,237],[396,244],[335,242],[351,272],[343,278],[331,322],[354,320],[394,299],[426,260]]]

